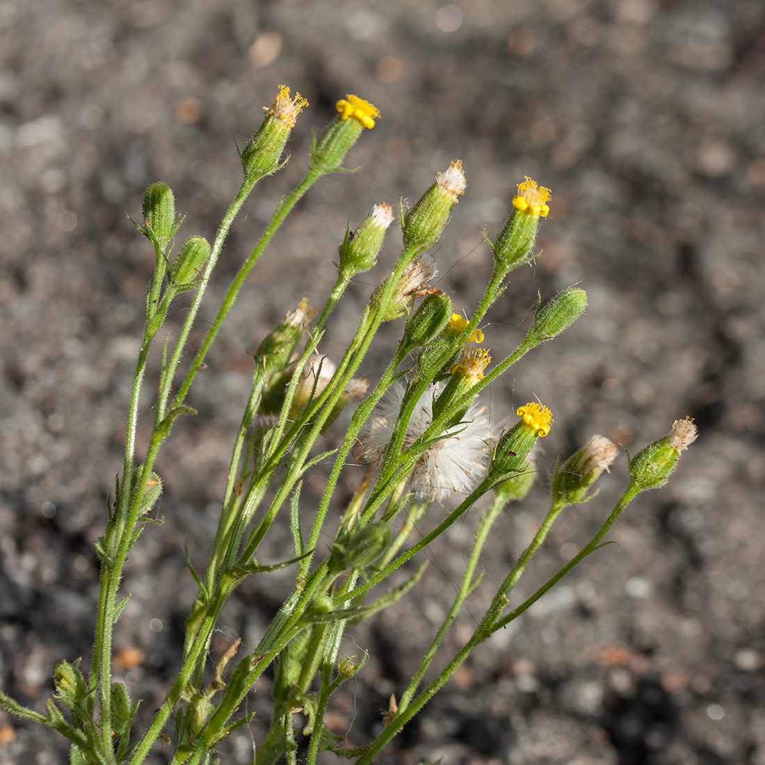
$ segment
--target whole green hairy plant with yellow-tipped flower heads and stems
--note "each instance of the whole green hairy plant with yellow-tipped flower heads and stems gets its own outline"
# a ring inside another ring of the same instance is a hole
[[[310,308],[305,299],[296,301],[295,310],[260,343],[207,568],[195,570],[187,551],[197,595],[186,620],[181,669],[148,727],[137,730],[138,701],[112,678],[112,633],[129,600],[120,588],[125,561],[146,524],[156,522],[148,513],[162,491],[161,477],[154,470],[158,451],[175,420],[194,413],[187,404],[192,383],[265,247],[309,187],[343,169],[347,151],[379,117],[371,103],[357,96],[337,102],[337,116],[321,135],[314,135],[304,177],[277,204],[196,347],[189,341],[190,330],[229,228],[255,184],[284,166],[285,144],[304,106],[305,99],[291,97],[282,86],[266,109],[262,125],[240,152],[242,185],[212,245],[200,236],[190,236],[172,256],[181,226],[174,196],[161,183],[151,184],[145,192],[144,223],[139,228],[154,246],[156,268],[148,286],[145,329],[132,384],[125,464],[115,496],[107,503],[106,530],[96,542],[101,578],[93,660],[89,672],[83,672],[80,660],[62,661],[55,667],[55,691],[44,712],[26,708],[0,692],[0,708],[54,728],[71,741],[72,765],[138,765],[155,747],[164,747],[164,757],[173,765],[210,763],[216,745],[251,718],[243,702],[269,668],[274,676],[273,711],[268,732],[255,742],[257,765],[283,758],[296,763],[298,749],[301,760],[308,763],[327,750],[356,758],[358,765],[371,762],[480,643],[523,614],[601,545],[638,493],[666,483],[680,452],[696,437],[692,421],[682,419],[672,425],[669,435],[635,454],[629,462],[627,487],[594,537],[539,590],[509,610],[509,593],[552,523],[565,507],[593,495],[594,483],[617,457],[617,447],[594,435],[568,460],[558,461],[550,476],[550,509],[539,531],[495,585],[496,592],[486,612],[477,617],[473,634],[453,656],[439,656],[434,669],[440,669],[431,672],[435,678],[425,684],[438,649],[445,653],[444,636],[481,577],[480,555],[490,529],[508,503],[522,500],[529,492],[537,474],[529,454],[553,422],[545,405],[529,402],[518,408],[519,421],[512,428],[492,438],[480,393],[529,350],[561,334],[583,313],[587,302],[578,288],[565,289],[545,304],[539,301],[526,337],[498,363],[480,347],[480,325],[490,305],[502,295],[509,273],[535,258],[535,235],[540,219],[549,213],[550,194],[528,177],[518,184],[506,223],[493,241],[487,238],[493,272],[483,297],[472,315],[464,317],[452,311],[448,295],[431,287],[435,265],[428,254],[466,187],[461,162],[452,162],[436,174],[435,184],[413,207],[402,205],[401,254],[389,275],[373,289],[353,340],[337,363],[319,350],[324,327],[352,279],[376,264],[393,220],[386,203],[377,204],[363,223],[347,230],[339,247],[337,282],[321,311]],[[156,398],[151,408],[140,412],[149,351],[172,301],[181,293],[193,295],[187,317],[174,342],[169,337],[163,340]],[[402,324],[399,345],[370,389],[369,381],[356,373],[373,353],[377,330],[397,320]],[[190,353],[193,360],[184,374],[179,371],[181,360]],[[317,441],[352,399],[358,403],[339,445],[320,451]],[[139,461],[138,418],[152,414],[148,449]],[[351,461],[362,461],[369,470],[338,513],[339,500],[333,503],[333,497],[343,466]],[[321,503],[309,507],[301,503],[301,481],[319,463],[328,466],[326,490]],[[366,655],[340,656],[343,634],[404,597],[417,584],[424,566],[410,571],[395,587],[382,586],[386,579],[484,495],[488,504],[477,521],[454,603],[409,685],[390,699],[384,725],[373,741],[354,748],[343,746],[340,734],[344,731],[331,731],[325,715],[333,692],[360,672],[366,659]],[[448,508],[453,497],[457,506],[445,516],[439,510],[435,527],[418,535],[418,521],[428,506],[438,500]],[[277,519],[291,530],[291,549],[278,562],[263,562],[259,545]],[[327,535],[334,539],[329,546],[320,543]],[[211,636],[226,598],[246,579],[285,567],[295,572],[295,587],[257,645],[245,650],[236,640],[220,659],[208,661]]]

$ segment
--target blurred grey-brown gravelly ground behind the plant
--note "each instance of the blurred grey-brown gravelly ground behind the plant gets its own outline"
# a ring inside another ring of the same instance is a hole
[[[161,179],[187,214],[184,233],[211,238],[239,184],[233,137],[246,140],[287,83],[311,106],[288,168],[236,220],[212,298],[300,176],[311,127],[335,100],[357,93],[382,119],[349,158],[360,171],[321,181],[263,257],[192,392],[199,415],[178,425],[158,464],[166,522],[129,564],[120,676],[150,712],[177,668],[193,597],[183,539],[200,558],[210,543],[248,353],[302,295],[321,304],[348,218],[379,200],[416,200],[459,157],[467,194],[436,256],[438,286],[466,308],[490,269],[482,229],[501,222],[514,184],[528,174],[553,190],[542,256],[484,329],[493,355],[522,337],[537,291],[578,284],[590,300],[565,336],[492,386],[496,430],[513,405],[549,404],[542,468],[594,432],[634,450],[691,415],[701,438],[672,483],[620,520],[618,546],[484,644],[379,761],[765,765],[761,0],[0,0],[0,59],[2,688],[42,708],[54,664],[90,656],[92,543],[120,469],[153,261],[125,213],[138,218],[142,190]],[[326,353],[343,347],[392,262],[389,238],[387,259],[331,324]],[[365,372],[374,378],[384,362],[381,353]],[[601,495],[565,514],[519,597],[589,538],[625,477],[622,457]],[[321,472],[307,490],[321,490]],[[500,520],[454,645],[546,500],[540,481]],[[476,516],[429,551],[417,591],[356,634],[371,659],[332,712],[350,741],[379,728],[405,685],[448,607]],[[271,544],[282,555],[286,530]],[[257,640],[287,586],[244,587],[214,651],[233,636]],[[267,681],[258,690],[258,715],[223,762],[249,762]],[[0,765],[63,763],[66,751],[0,716]],[[158,751],[151,761],[167,760]]]

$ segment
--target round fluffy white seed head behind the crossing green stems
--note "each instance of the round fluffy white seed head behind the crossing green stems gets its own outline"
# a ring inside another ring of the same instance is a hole
[[[433,419],[433,400],[443,388],[437,382],[415,405],[406,424],[403,447],[408,448],[428,429]],[[382,460],[399,416],[406,385],[395,382],[377,406],[359,436],[359,456],[369,463]],[[452,492],[470,493],[486,474],[490,440],[486,410],[473,403],[463,422],[444,431],[418,458],[409,484],[420,500],[448,498]]]

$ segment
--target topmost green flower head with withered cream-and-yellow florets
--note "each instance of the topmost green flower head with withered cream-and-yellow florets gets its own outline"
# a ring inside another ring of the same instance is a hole
[[[282,152],[304,106],[308,106],[308,101],[300,93],[290,98],[289,88],[279,86],[271,107],[263,107],[268,114],[240,155],[246,178],[257,181],[278,170]]]

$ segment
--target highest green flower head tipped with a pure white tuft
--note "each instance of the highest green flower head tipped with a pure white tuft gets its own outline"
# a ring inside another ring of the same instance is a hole
[[[422,195],[412,210],[405,214],[401,227],[404,248],[422,251],[432,247],[441,238],[451,208],[457,197],[465,193],[467,182],[462,162],[455,159],[443,173],[436,173],[436,182]]]

